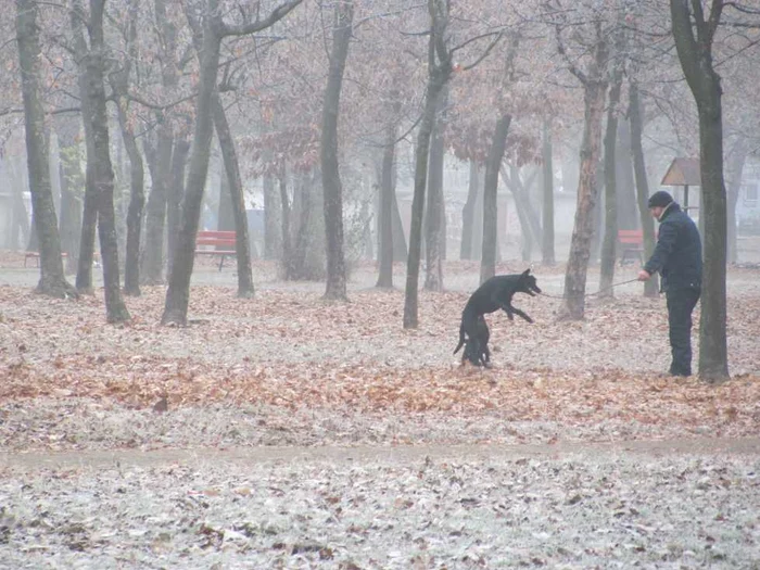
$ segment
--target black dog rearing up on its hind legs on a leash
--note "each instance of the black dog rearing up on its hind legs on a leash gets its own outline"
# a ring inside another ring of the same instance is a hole
[[[479,320],[486,313],[493,313],[502,308],[509,317],[509,320],[514,320],[515,315],[518,315],[528,322],[533,322],[532,318],[512,306],[515,293],[527,293],[531,296],[535,296],[535,293],[541,293],[535,277],[530,275],[530,269],[525,269],[517,275],[497,275],[480,286],[470,295],[465,309],[461,312],[459,344],[454,352],[456,353],[465,343],[465,339],[467,339],[468,346],[465,349],[465,355],[476,366],[483,364],[485,352],[481,349],[482,333],[479,329],[482,329],[482,326],[479,324]],[[484,324],[485,320],[483,320]],[[487,326],[485,328],[487,330]],[[487,346],[485,349],[487,350]]]

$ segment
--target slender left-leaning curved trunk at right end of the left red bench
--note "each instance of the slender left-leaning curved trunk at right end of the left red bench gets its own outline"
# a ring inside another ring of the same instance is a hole
[[[235,217],[235,246],[238,258],[238,296],[250,299],[254,294],[253,269],[251,268],[251,245],[248,233],[248,217],[245,215],[245,198],[243,197],[243,181],[240,177],[240,164],[235,150],[235,140],[229,128],[225,107],[218,92],[214,92],[214,125],[216,136],[219,139],[221,156],[225,161],[227,181],[229,186],[232,215]]]

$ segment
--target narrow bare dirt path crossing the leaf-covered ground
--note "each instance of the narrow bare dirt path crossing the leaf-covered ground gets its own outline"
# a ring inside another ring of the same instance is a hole
[[[0,454],[0,469],[37,470],[45,468],[111,468],[160,467],[165,465],[199,466],[207,464],[266,464],[278,461],[334,463],[416,463],[429,457],[441,460],[514,459],[519,457],[548,456],[619,456],[641,454],[653,457],[670,455],[760,455],[760,438],[695,438],[658,441],[622,441],[613,443],[561,442],[554,445],[398,445],[398,446],[288,446],[288,447],[235,447],[235,448],[181,448],[181,449],[114,449],[33,452]]]

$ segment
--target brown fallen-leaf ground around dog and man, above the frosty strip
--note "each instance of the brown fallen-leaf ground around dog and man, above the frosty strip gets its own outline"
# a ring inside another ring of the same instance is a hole
[[[565,324],[554,320],[557,301],[520,296],[515,304],[535,325],[491,315],[495,366],[479,370],[452,355],[465,292],[421,293],[416,331],[402,329],[400,291],[356,291],[342,304],[303,290],[238,300],[228,288],[197,287],[187,329],[157,324],[163,294],[152,288],[129,299],[134,321],[114,327],[104,324],[102,294],[71,302],[0,287],[0,400],[90,397],[144,408],[166,396],[173,408],[264,403],[566,425],[631,420],[724,434],[760,428],[757,288],[731,297],[738,376],[721,385],[658,375],[668,364],[663,302],[637,295],[592,300],[585,321]]]

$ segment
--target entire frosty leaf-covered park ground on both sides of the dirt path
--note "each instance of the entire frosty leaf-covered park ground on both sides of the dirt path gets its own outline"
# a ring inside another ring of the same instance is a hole
[[[431,451],[756,436],[760,271],[730,271],[734,378],[712,387],[660,376],[664,303],[635,283],[613,301],[590,297],[582,322],[557,322],[558,300],[518,295],[536,322],[490,316],[494,368],[479,370],[452,354],[474,265],[449,264],[449,291],[420,293],[415,331],[401,327],[403,292],[371,288],[371,267],[357,269],[347,304],[322,301],[319,283],[279,282],[268,265],[256,267],[256,296],[238,300],[232,271],[211,269],[194,277],[188,328],[157,325],[163,288],[128,299],[135,319],[114,327],[102,294],[51,301],[10,270],[13,286],[0,287],[0,568],[750,568],[760,559],[760,519],[748,510],[760,504],[758,453]],[[559,293],[560,269],[535,273]],[[30,452],[203,457],[367,445],[419,455],[13,461]]]

